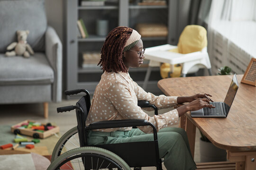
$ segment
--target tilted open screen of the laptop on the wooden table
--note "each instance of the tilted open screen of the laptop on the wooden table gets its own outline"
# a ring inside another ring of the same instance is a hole
[[[229,112],[229,109],[232,105],[232,102],[234,101],[234,98],[236,96],[236,93],[238,91],[238,79],[237,79],[237,75],[235,74],[233,76],[233,79],[231,81],[231,84],[229,86],[229,90],[228,93],[225,97],[224,103],[227,106],[227,113]]]

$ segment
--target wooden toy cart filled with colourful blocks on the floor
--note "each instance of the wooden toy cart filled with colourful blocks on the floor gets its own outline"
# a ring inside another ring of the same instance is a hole
[[[11,127],[11,131],[17,135],[14,139],[15,143],[27,142],[26,138],[22,138],[18,134],[43,139],[58,133],[59,130],[58,126],[53,126],[51,123],[43,124],[33,120],[25,120]]]

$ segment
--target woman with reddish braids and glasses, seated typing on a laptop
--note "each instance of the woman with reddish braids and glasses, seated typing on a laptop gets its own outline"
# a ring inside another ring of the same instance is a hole
[[[179,117],[187,111],[199,110],[210,105],[210,94],[195,94],[189,97],[155,96],[146,93],[129,76],[129,68],[138,68],[144,60],[141,35],[129,27],[114,28],[107,36],[101,49],[103,74],[97,85],[86,125],[95,121],[116,119],[146,119],[155,125],[158,131],[160,158],[164,158],[167,170],[194,170],[186,132],[182,128],[168,127],[178,124]],[[98,64],[98,65],[99,65]],[[149,117],[139,106],[138,100],[146,100],[158,109],[183,106],[161,115]],[[165,128],[164,128],[165,127]],[[89,144],[113,144],[153,140],[151,127],[122,127],[97,129],[88,134]]]

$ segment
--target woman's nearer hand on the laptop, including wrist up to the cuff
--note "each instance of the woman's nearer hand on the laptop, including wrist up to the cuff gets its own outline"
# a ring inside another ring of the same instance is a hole
[[[177,108],[177,111],[179,113],[179,117],[185,114],[187,111],[195,111],[202,109],[204,107],[208,108],[215,108],[212,104],[210,104],[210,101],[207,98],[199,98],[196,99],[190,103],[184,104]]]

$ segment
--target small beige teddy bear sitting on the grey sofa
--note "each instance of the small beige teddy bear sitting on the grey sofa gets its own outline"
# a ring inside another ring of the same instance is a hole
[[[23,55],[24,57],[30,57],[30,54],[34,54],[31,46],[27,43],[27,35],[29,34],[28,30],[18,30],[18,42],[12,42],[7,47],[7,52],[5,53],[6,56],[15,56],[15,55]],[[15,49],[14,49],[15,48]],[[10,51],[14,49],[13,51]],[[29,54],[30,53],[30,54]]]

